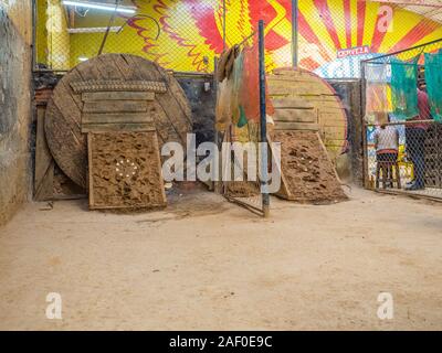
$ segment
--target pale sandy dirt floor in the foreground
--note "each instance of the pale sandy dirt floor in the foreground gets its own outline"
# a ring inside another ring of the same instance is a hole
[[[349,196],[272,200],[270,220],[194,190],[137,215],[28,204],[0,228],[0,329],[441,330],[442,205]]]

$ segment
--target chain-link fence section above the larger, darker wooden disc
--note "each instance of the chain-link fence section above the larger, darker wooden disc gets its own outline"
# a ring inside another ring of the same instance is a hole
[[[127,53],[178,72],[211,73],[223,50],[222,1],[35,1],[40,69],[67,71],[99,53]]]

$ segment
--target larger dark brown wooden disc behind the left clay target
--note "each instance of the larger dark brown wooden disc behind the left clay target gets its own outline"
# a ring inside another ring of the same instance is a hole
[[[59,167],[80,186],[86,186],[87,146],[81,132],[82,98],[71,83],[86,81],[157,81],[168,90],[156,94],[152,115],[160,146],[175,141],[186,146],[191,130],[191,109],[185,92],[171,74],[143,57],[128,54],[104,54],[81,63],[56,85],[48,104],[45,135]]]

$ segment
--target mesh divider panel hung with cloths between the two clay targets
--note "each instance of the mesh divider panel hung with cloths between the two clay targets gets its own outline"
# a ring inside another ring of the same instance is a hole
[[[266,163],[266,154],[263,156],[261,148],[266,148],[266,143],[260,143],[264,142],[260,86],[265,86],[265,82],[261,82],[260,69],[265,67],[264,56],[260,56],[263,52],[260,52],[259,33],[243,39],[235,47],[236,51],[224,55],[217,65],[217,76],[221,81],[218,86],[217,129],[218,141],[222,142],[219,143],[222,156],[219,191],[229,201],[266,215],[261,188],[261,171]],[[224,58],[231,55],[234,57],[232,64],[225,64]],[[230,66],[231,69],[225,68]]]

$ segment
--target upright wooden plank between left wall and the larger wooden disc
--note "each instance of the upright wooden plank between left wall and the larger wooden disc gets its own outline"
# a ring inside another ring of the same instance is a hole
[[[44,135],[43,107],[36,108],[34,200],[48,201],[54,195],[54,160]]]

